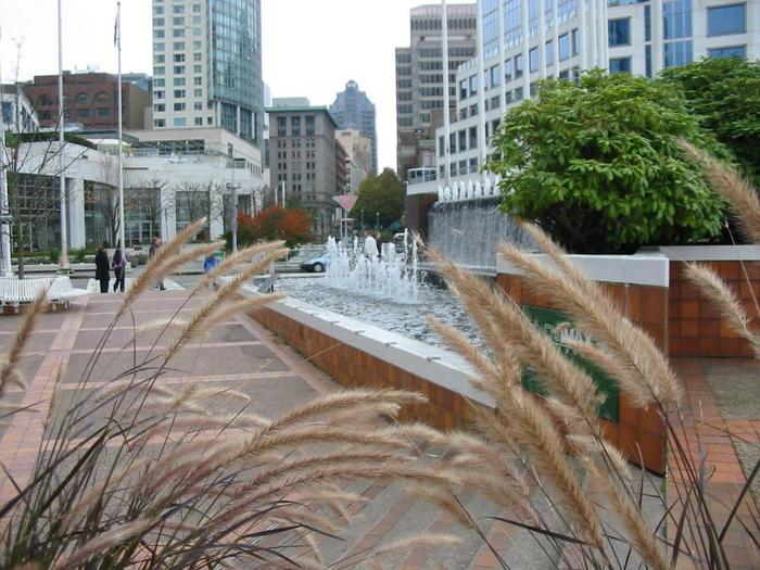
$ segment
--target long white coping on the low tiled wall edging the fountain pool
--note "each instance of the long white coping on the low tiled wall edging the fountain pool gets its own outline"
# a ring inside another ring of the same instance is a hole
[[[249,286],[242,287],[240,293],[248,297],[261,295]],[[472,387],[469,381],[474,373],[472,368],[453,352],[430,346],[293,297],[270,303],[267,308],[446,390],[489,407],[495,406],[491,396]]]

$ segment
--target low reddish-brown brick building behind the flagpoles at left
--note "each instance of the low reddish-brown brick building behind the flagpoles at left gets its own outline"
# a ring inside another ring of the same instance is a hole
[[[58,75],[36,75],[24,87],[42,128],[58,126]],[[113,129],[118,126],[118,78],[107,73],[63,73],[64,122],[86,129]],[[145,110],[151,96],[136,84],[122,81],[124,128],[145,128]]]

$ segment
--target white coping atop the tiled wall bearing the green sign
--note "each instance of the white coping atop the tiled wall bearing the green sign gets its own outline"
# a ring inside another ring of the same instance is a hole
[[[529,253],[544,265],[556,267],[545,253]],[[654,287],[670,284],[670,259],[661,253],[636,253],[634,255],[568,255],[582,271],[594,281],[628,283]],[[523,275],[504,255],[496,255],[496,273]]]

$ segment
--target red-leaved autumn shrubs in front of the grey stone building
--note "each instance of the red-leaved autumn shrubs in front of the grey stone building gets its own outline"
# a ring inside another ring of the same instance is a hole
[[[238,242],[250,245],[262,240],[284,240],[289,246],[312,239],[312,216],[304,208],[270,206],[256,216],[238,215]],[[232,240],[227,236],[227,243]]]

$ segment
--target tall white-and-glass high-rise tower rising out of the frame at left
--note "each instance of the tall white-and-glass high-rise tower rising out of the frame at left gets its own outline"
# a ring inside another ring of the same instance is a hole
[[[261,0],[153,0],[153,128],[263,145]]]

